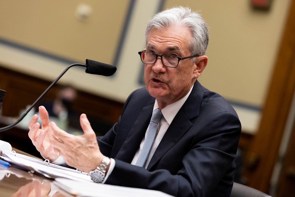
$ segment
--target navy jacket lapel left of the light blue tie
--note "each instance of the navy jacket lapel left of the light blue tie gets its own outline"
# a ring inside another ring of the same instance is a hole
[[[150,118],[152,117],[153,108],[154,103],[142,108],[126,140],[124,141],[121,149],[115,157],[116,159],[131,163],[135,152],[139,148],[140,142],[145,135],[145,131],[148,128]]]

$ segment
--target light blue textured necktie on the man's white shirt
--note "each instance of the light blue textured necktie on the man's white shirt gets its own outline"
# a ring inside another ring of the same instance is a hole
[[[140,151],[139,157],[135,165],[140,167],[143,167],[145,165],[145,162],[150,153],[150,149],[155,141],[155,137],[156,137],[156,133],[158,129],[158,123],[160,119],[162,118],[162,115],[163,114],[160,109],[155,109],[155,111],[153,112],[152,118],[150,119],[150,125],[148,128],[148,135],[145,139],[145,142],[142,146],[142,149]]]

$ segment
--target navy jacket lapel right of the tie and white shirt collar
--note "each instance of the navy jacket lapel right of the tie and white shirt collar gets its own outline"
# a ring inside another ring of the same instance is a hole
[[[153,167],[153,165],[155,165],[155,163],[158,162],[158,160],[178,142],[178,140],[191,128],[191,126],[193,126],[190,120],[199,115],[202,99],[203,89],[201,84],[196,81],[191,94],[176,114],[159,146],[157,147],[148,165],[148,170],[150,170],[150,168]]]

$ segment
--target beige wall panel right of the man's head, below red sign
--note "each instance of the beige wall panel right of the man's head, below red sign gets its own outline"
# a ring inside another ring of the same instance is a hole
[[[164,8],[201,10],[210,27],[202,85],[229,100],[263,107],[290,4],[272,2],[269,12],[261,12],[251,9],[249,0],[166,1]]]

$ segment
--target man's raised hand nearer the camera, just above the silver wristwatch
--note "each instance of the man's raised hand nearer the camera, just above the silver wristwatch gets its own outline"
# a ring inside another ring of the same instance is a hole
[[[80,124],[84,131],[83,136],[69,134],[51,122],[53,136],[50,143],[60,150],[65,162],[78,170],[89,172],[101,163],[104,155],[100,152],[96,135],[90,126],[85,114],[80,116]]]

